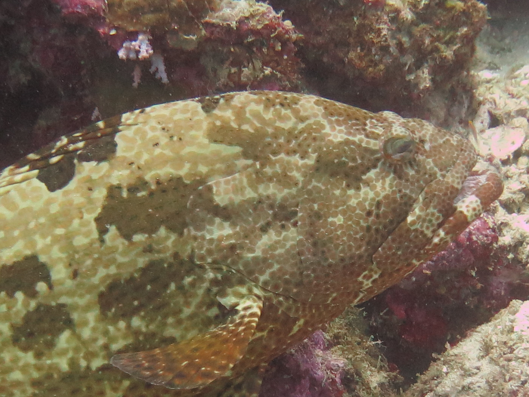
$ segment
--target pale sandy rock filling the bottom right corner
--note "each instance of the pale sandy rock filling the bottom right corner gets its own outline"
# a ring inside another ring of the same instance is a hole
[[[529,394],[529,301],[512,301],[438,357],[403,397]]]

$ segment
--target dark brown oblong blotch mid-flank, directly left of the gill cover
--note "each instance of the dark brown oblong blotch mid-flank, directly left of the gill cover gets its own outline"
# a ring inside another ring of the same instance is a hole
[[[99,236],[104,236],[108,225],[113,224],[126,240],[136,233],[156,233],[161,225],[182,234],[187,227],[189,197],[202,184],[201,181],[187,184],[179,177],[151,188],[148,182],[139,179],[126,186],[126,194],[122,186],[109,186],[105,204],[95,219]]]

